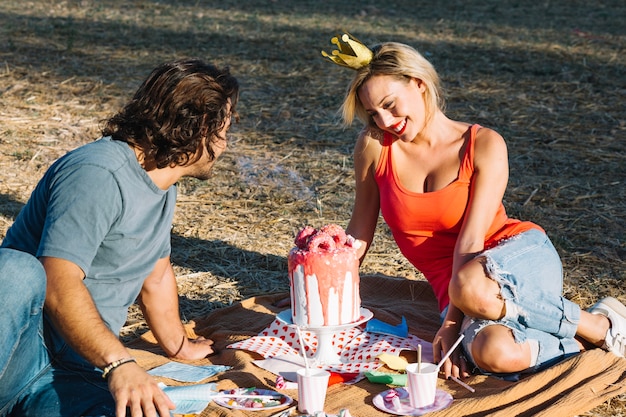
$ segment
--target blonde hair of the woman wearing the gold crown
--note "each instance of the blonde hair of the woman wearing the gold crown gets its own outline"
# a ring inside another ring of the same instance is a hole
[[[385,42],[372,48],[374,56],[370,63],[357,70],[348,86],[341,106],[341,114],[346,125],[351,125],[355,116],[366,125],[375,125],[359,100],[359,88],[371,77],[388,75],[399,80],[412,78],[421,80],[426,86],[426,123],[429,123],[437,109],[443,110],[444,99],[439,75],[433,65],[416,49],[397,42]]]

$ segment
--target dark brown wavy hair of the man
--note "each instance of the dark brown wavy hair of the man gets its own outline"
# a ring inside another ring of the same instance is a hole
[[[102,134],[141,149],[157,168],[193,163],[205,149],[213,160],[218,133],[228,118],[238,120],[238,98],[239,83],[228,68],[195,58],[164,63],[105,122]]]

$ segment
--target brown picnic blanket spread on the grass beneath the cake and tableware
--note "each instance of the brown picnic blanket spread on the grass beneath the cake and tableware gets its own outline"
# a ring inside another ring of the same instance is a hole
[[[205,382],[215,382],[219,390],[236,387],[276,390],[276,375],[252,363],[261,359],[261,355],[229,349],[227,346],[257,336],[267,328],[276,315],[284,310],[284,307],[276,307],[276,303],[286,296],[276,294],[250,298],[215,310],[187,326],[190,335],[214,340],[217,350],[215,355],[207,359],[189,363],[232,367]],[[431,341],[438,329],[439,315],[435,297],[424,281],[362,276],[361,298],[363,306],[374,313],[374,318],[395,324],[404,316],[409,332],[423,340]],[[145,369],[168,362],[149,332],[128,346]],[[165,382],[168,385],[180,384],[171,380]],[[474,393],[453,381],[440,378],[438,388],[452,394],[454,401],[448,408],[430,413],[429,416],[575,416],[626,393],[626,359],[601,349],[593,349],[518,382],[483,375],[472,376],[466,382],[475,388]],[[388,416],[373,405],[374,397],[388,388],[386,385],[370,383],[367,379],[354,385],[331,385],[325,411],[338,414],[341,409],[347,408],[354,417]],[[296,390],[281,392],[297,400]],[[231,410],[210,403],[200,415],[267,417],[272,414],[270,411]]]

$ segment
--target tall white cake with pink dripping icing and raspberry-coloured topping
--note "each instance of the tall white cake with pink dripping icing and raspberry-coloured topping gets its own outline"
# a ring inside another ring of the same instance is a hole
[[[331,224],[307,226],[289,252],[291,314],[301,327],[354,323],[361,317],[359,260],[354,239]]]

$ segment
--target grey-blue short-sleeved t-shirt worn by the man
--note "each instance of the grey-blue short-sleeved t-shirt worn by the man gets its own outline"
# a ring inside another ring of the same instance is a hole
[[[128,144],[102,138],[56,161],[2,242],[66,259],[119,334],[156,261],[170,253],[176,187],[161,190]]]

